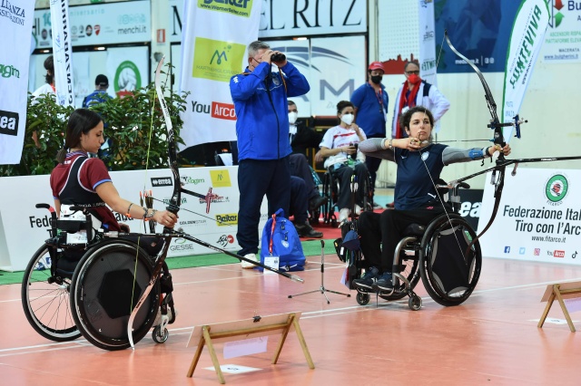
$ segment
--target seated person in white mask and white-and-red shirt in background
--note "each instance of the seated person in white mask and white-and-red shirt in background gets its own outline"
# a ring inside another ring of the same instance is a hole
[[[324,166],[330,169],[333,178],[339,180],[339,222],[350,216],[350,183],[355,174],[359,181],[368,178],[365,156],[358,150],[359,142],[367,140],[365,132],[354,123],[355,106],[350,101],[337,103],[337,116],[340,124],[325,132],[320,141],[320,155],[325,159]],[[363,206],[363,189],[358,189],[356,196],[356,213],[359,215]],[[358,213],[359,212],[359,213]]]

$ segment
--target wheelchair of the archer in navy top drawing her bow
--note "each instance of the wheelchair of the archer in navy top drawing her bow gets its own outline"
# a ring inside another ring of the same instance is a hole
[[[458,188],[469,186],[464,182],[438,185],[438,190],[443,188],[452,190],[452,213],[434,218],[427,227],[409,225],[394,252],[392,289],[369,292],[356,287],[360,305],[369,303],[370,294],[389,301],[409,296],[409,308],[418,311],[422,300],[414,288],[420,278],[428,295],[444,306],[462,304],[472,294],[480,276],[482,252],[476,232],[458,215]],[[355,275],[359,277],[360,269]]]

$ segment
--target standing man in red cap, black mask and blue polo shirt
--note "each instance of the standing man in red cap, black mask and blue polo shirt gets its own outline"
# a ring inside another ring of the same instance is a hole
[[[355,106],[355,120],[365,131],[367,138],[385,137],[389,97],[381,83],[384,72],[381,62],[369,64],[368,82],[355,90],[350,98]],[[368,158],[365,163],[371,176],[371,189],[375,190],[375,179],[381,159]],[[379,205],[374,203],[373,207],[379,208]]]

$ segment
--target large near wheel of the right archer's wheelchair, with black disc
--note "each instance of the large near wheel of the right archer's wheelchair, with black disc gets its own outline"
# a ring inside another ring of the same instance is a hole
[[[449,220],[446,215],[437,217],[426,229],[419,254],[419,273],[436,303],[462,304],[474,291],[482,267],[478,240],[470,246],[476,236],[468,222],[455,214]]]

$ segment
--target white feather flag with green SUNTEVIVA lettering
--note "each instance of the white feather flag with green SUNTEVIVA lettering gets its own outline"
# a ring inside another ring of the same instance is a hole
[[[549,18],[547,0],[523,0],[520,4],[508,42],[502,121],[513,121],[519,113]],[[504,136],[510,140],[512,127],[505,129]]]

